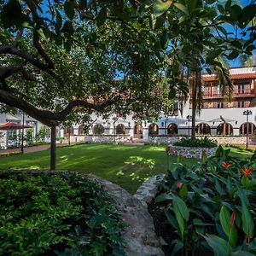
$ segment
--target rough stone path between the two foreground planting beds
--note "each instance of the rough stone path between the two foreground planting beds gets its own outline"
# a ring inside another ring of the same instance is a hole
[[[106,187],[109,195],[115,201],[123,220],[128,224],[123,233],[127,256],[164,256],[165,254],[160,248],[160,239],[154,233],[153,218],[148,212],[148,207],[136,195],[131,195],[118,185],[100,177],[92,175],[90,177]],[[144,187],[147,186],[144,184]],[[153,185],[148,191],[152,189]],[[140,191],[140,196],[143,196],[142,190]]]

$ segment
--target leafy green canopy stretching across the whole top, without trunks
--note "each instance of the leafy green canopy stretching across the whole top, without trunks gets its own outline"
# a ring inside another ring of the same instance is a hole
[[[256,5],[234,1],[2,0],[0,102],[45,125],[68,115],[156,116],[186,71],[255,49]],[[183,67],[183,68],[181,68]]]

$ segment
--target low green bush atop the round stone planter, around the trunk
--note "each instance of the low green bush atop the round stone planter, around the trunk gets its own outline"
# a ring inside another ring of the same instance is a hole
[[[192,140],[190,137],[182,137],[180,141],[173,143],[174,146],[193,147],[193,148],[214,148],[217,143],[211,139],[204,137],[203,139]]]

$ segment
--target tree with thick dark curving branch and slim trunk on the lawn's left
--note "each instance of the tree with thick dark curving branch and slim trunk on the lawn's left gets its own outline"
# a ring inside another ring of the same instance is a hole
[[[156,116],[169,86],[148,21],[133,21],[136,7],[122,1],[42,6],[33,0],[1,4],[0,102],[4,111],[20,108],[51,127],[55,169],[56,125],[113,109]]]

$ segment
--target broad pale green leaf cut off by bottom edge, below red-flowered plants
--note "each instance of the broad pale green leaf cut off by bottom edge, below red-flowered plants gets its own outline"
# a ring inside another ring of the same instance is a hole
[[[231,247],[230,244],[223,238],[215,235],[204,236],[207,243],[212,247],[212,251],[216,256],[230,256]]]

